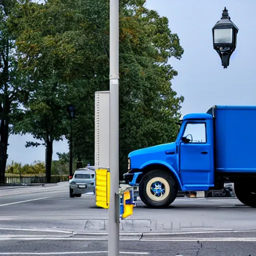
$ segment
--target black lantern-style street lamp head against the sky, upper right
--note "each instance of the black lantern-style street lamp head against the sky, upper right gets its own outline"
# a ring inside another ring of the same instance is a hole
[[[212,27],[213,48],[221,58],[222,66],[227,68],[229,58],[236,47],[237,26],[230,20],[226,7],[223,9],[222,17]]]

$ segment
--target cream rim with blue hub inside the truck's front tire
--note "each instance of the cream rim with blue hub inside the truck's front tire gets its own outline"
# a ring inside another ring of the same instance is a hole
[[[152,189],[153,188],[152,185],[154,186],[154,188],[158,188],[158,189]],[[164,187],[164,193],[160,192],[160,190],[162,190],[163,187]],[[158,192],[155,192],[155,190],[157,190]],[[167,180],[162,177],[151,178],[146,184],[146,194],[152,201],[157,201],[157,202],[163,201],[168,197],[169,193],[170,193],[170,185],[167,182]]]

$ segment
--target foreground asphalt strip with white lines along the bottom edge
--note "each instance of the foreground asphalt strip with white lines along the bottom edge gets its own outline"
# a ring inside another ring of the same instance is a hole
[[[251,238],[253,236],[253,238]],[[209,233],[147,237],[120,241],[120,255],[252,256],[256,255],[255,232]],[[0,255],[107,255],[106,240],[37,236],[0,239]]]

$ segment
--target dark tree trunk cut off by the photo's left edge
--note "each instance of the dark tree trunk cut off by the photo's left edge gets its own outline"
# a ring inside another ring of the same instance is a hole
[[[1,119],[0,123],[0,184],[4,184],[4,174],[7,161],[7,145],[8,145],[8,123]]]

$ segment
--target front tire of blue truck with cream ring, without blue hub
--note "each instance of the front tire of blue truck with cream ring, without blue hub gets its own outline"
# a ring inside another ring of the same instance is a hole
[[[159,178],[160,180],[157,180]],[[154,179],[154,180],[152,180]],[[168,190],[168,194],[164,196],[163,194],[163,199],[160,199],[160,196],[155,196],[151,192],[151,182],[164,182],[164,188],[165,190]],[[168,188],[167,188],[168,185]],[[169,204],[171,204],[176,196],[177,196],[177,191],[178,187],[175,182],[175,180],[172,178],[170,173],[164,170],[151,170],[147,172],[139,182],[139,197],[141,201],[146,204],[149,207],[152,208],[157,208],[157,207],[166,207]],[[155,198],[155,200],[153,200]]]

